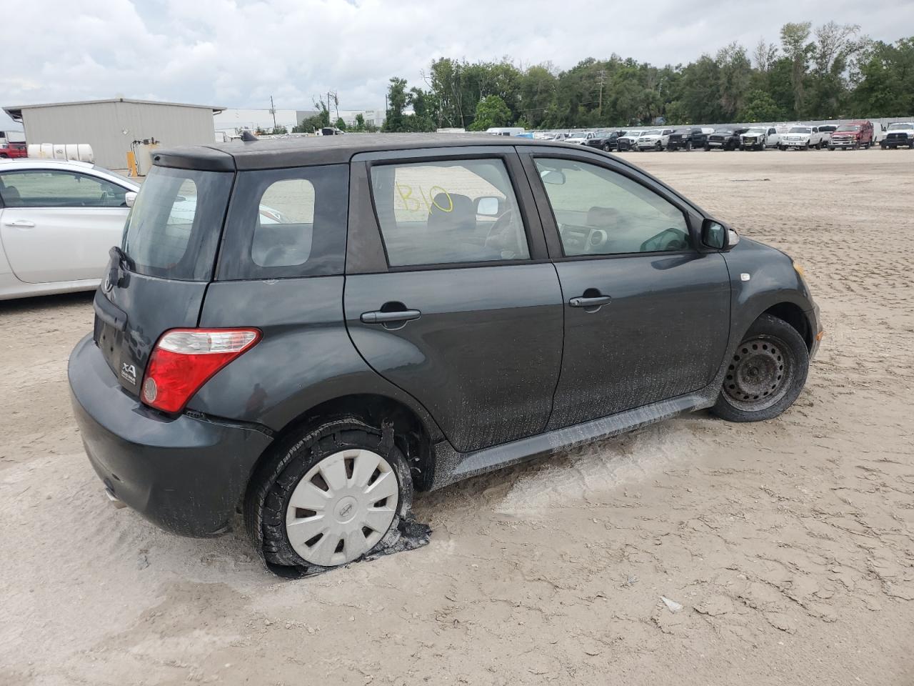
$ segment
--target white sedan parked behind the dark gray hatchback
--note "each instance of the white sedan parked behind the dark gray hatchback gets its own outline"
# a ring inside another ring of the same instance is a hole
[[[86,162],[0,162],[0,300],[96,288],[139,188]]]

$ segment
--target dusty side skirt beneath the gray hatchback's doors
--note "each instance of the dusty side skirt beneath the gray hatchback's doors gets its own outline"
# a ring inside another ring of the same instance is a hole
[[[552,455],[575,445],[624,434],[677,414],[710,407],[717,399],[720,384],[714,383],[708,388],[512,443],[493,445],[473,453],[458,453],[448,441],[441,441],[433,447],[435,467],[430,490],[450,486],[465,478],[516,465],[534,457]]]

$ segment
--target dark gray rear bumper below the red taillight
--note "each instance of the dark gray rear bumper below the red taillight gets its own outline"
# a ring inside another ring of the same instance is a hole
[[[270,436],[146,408],[122,390],[91,336],[73,349],[68,373],[86,454],[111,495],[166,531],[227,529]]]

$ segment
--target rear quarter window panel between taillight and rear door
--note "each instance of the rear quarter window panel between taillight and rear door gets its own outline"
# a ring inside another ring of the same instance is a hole
[[[221,281],[343,273],[348,165],[239,172]]]

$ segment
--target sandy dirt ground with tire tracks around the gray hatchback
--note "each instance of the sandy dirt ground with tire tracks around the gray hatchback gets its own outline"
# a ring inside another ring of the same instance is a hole
[[[429,546],[282,581],[108,505],[65,374],[90,295],[0,303],[0,684],[914,683],[914,153],[626,158],[805,266],[790,411],[421,496]]]

